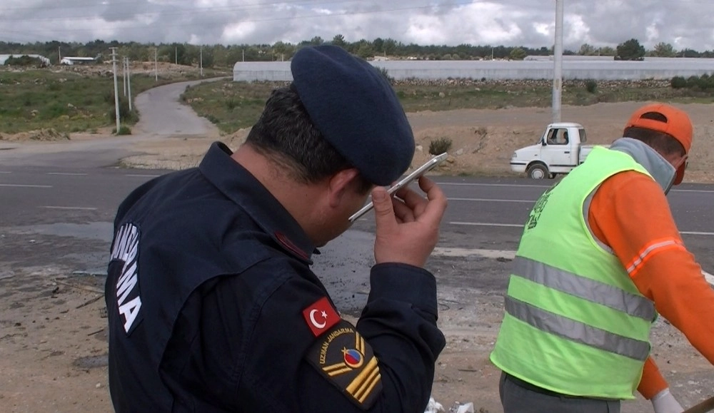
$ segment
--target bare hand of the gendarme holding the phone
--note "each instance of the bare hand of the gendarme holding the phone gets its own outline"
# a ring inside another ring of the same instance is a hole
[[[419,187],[422,195],[409,188],[396,192],[391,198],[385,188],[372,190],[376,219],[374,259],[381,262],[402,262],[423,267],[439,238],[439,224],[446,210],[446,195],[422,176]]]

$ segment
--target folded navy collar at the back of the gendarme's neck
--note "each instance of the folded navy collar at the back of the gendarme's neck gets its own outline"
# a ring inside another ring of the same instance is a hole
[[[240,163],[228,147],[214,142],[198,170],[226,197],[239,205],[278,245],[294,257],[312,264],[315,245],[283,205]]]

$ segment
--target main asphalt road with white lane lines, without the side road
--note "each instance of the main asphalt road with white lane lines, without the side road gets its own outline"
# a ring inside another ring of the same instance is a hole
[[[146,180],[169,172],[111,166],[1,166],[0,272],[61,264],[72,271],[100,274],[121,200]],[[441,279],[446,285],[502,293],[522,225],[550,182],[434,180],[445,190],[449,206],[430,269],[450,268],[450,275]],[[708,254],[714,240],[714,185],[681,185],[669,199],[686,245],[705,270],[714,272],[714,257]],[[315,256],[316,272],[336,297],[345,300],[345,310],[357,311],[366,298],[373,229],[373,213],[368,213]],[[64,248],[53,247],[58,243]]]

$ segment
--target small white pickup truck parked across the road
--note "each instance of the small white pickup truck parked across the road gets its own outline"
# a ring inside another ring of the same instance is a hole
[[[585,128],[579,123],[550,123],[538,143],[513,153],[511,170],[533,179],[568,173],[593,150],[593,145],[584,145],[586,141]]]

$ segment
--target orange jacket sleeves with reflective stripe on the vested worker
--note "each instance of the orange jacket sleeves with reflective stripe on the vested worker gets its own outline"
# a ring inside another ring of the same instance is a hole
[[[593,195],[588,220],[642,295],[714,364],[714,290],[685,248],[660,185],[635,171],[613,175]],[[650,357],[638,392],[650,399],[666,387]]]

